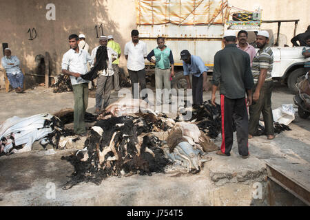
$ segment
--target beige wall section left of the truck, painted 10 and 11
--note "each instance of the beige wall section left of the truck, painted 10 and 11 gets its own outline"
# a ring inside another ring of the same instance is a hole
[[[45,18],[48,3],[56,6],[55,21]],[[49,52],[52,75],[59,74],[61,58],[70,49],[68,36],[72,33],[85,34],[91,52],[99,45],[95,25],[102,24],[103,34],[113,34],[123,50],[136,26],[134,0],[0,0],[0,5],[0,43],[9,44],[26,72],[34,69],[35,56]],[[29,28],[37,30],[33,41],[28,40]],[[121,56],[121,66],[124,65],[125,58]]]

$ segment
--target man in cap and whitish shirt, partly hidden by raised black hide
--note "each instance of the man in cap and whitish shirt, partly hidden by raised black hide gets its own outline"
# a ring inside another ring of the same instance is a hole
[[[97,65],[99,58],[99,54],[101,53],[101,62],[107,62],[101,64],[105,66],[102,70],[99,70],[99,77],[97,78],[97,88],[96,88],[96,111],[95,113],[100,113],[101,107],[103,104],[103,109],[105,109],[110,104],[110,94],[113,88],[113,67],[112,62],[116,60],[118,54],[112,50],[112,48],[107,47],[107,36],[101,36],[99,43],[101,44],[99,47],[96,47],[94,50],[94,65]],[[105,52],[106,51],[106,52]],[[106,57],[107,54],[107,57]],[[103,101],[103,103],[102,103]]]

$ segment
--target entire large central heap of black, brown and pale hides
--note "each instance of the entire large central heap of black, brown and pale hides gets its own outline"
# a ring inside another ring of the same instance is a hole
[[[211,159],[207,152],[216,150],[196,124],[175,122],[156,114],[144,100],[123,98],[99,115],[83,150],[61,158],[74,166],[63,189],[136,173],[198,173]]]

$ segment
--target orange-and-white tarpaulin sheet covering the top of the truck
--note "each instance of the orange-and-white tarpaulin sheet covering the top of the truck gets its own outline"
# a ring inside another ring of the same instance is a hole
[[[136,23],[201,25],[225,23],[225,0],[136,0]]]

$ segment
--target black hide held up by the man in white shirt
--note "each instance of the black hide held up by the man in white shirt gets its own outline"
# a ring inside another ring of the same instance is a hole
[[[90,72],[87,72],[85,75],[81,75],[81,78],[84,80],[94,80],[98,76],[98,72],[101,70],[107,71],[107,63],[109,57],[107,56],[107,47],[100,46],[96,52],[96,63]]]

